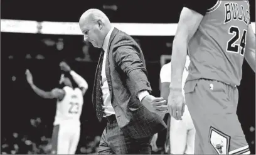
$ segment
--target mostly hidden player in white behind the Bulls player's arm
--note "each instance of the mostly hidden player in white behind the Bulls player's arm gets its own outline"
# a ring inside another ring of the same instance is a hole
[[[182,87],[184,87],[186,78],[188,77],[188,66],[190,60],[186,56],[186,64],[183,71]],[[163,98],[168,98],[169,85],[171,83],[171,62],[164,64],[160,71],[161,94]],[[184,90],[182,90],[184,95]],[[169,141],[171,154],[194,154],[195,149],[195,126],[189,114],[187,106],[185,106],[182,120],[176,120],[171,117],[169,120]]]

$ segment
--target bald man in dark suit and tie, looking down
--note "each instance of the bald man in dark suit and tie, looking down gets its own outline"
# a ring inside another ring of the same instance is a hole
[[[98,154],[151,154],[168,109],[163,98],[150,95],[141,48],[99,9],[85,11],[79,26],[84,40],[102,49],[92,94],[97,118],[107,120]]]

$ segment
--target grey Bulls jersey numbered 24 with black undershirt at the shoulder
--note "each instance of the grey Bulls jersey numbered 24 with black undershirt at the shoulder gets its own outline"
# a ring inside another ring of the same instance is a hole
[[[250,24],[248,1],[210,1],[185,7],[199,12],[203,19],[188,44],[189,76],[240,85],[247,29]],[[208,4],[211,4],[209,6]]]

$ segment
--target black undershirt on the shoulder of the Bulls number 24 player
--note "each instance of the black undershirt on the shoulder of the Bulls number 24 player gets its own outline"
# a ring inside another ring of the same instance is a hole
[[[185,0],[184,7],[191,9],[200,13],[201,15],[205,16],[206,12],[210,11],[211,9],[215,8],[220,1],[218,0],[207,0],[207,1],[191,1]]]

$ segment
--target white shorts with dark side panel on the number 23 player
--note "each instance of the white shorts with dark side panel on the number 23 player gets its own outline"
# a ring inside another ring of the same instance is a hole
[[[61,123],[53,126],[51,154],[75,154],[80,139],[80,124]]]

